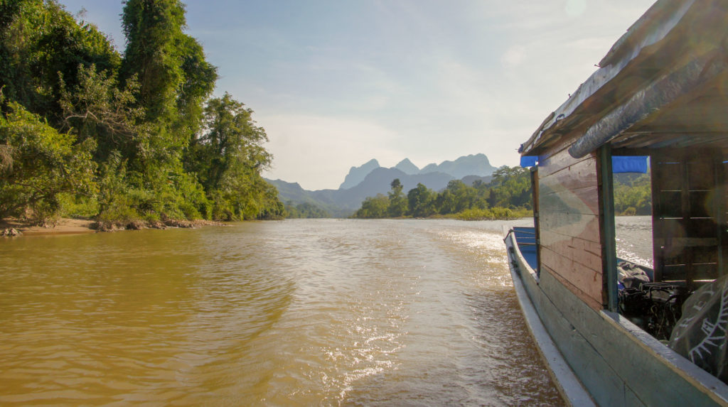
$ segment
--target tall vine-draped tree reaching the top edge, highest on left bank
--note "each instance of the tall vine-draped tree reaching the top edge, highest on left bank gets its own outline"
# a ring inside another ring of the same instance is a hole
[[[183,33],[179,0],[128,0],[122,13],[127,48],[122,79],[136,76],[138,102],[156,124],[151,148],[159,160],[177,157],[199,128],[202,103],[214,89],[217,68],[205,60],[197,40]]]

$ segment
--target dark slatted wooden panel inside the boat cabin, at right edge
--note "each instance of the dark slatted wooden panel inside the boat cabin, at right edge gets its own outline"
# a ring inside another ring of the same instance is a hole
[[[712,280],[728,252],[721,152],[660,150],[652,156],[652,235],[658,281]]]

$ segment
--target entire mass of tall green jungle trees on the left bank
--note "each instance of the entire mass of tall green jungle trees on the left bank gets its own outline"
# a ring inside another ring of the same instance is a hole
[[[210,97],[181,1],[127,0],[122,28],[123,56],[55,0],[0,0],[0,219],[282,217],[266,133]]]

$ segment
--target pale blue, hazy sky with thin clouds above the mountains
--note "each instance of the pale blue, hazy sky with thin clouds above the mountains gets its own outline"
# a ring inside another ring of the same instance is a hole
[[[111,36],[121,0],[59,0]],[[264,177],[336,189],[352,166],[518,146],[597,68],[653,0],[188,0],[186,33],[253,109]]]

